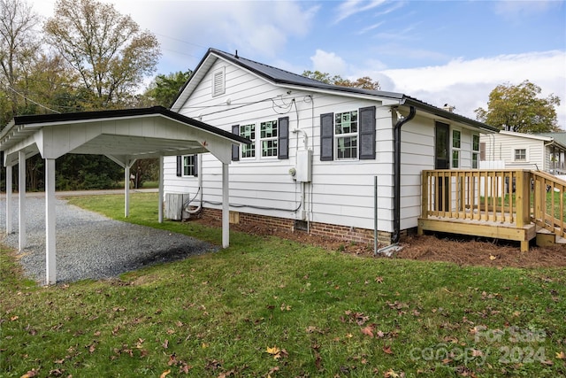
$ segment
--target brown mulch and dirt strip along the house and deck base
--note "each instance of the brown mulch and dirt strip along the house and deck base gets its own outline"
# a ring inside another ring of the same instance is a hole
[[[219,220],[190,220],[210,227],[220,227]],[[231,224],[235,231],[250,235],[273,235],[298,243],[316,245],[330,251],[342,251],[358,256],[373,257],[373,245],[350,243],[297,231]],[[395,258],[414,260],[447,261],[461,266],[512,266],[558,267],[566,266],[566,245],[540,248],[532,246],[521,252],[518,243],[494,241],[460,235],[409,236],[402,243],[402,251]]]

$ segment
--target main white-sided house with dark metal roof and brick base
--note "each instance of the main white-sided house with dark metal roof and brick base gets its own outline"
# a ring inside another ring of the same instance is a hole
[[[497,131],[401,93],[327,85],[214,49],[171,109],[252,141],[233,146],[231,221],[363,243],[377,229],[385,245],[417,228],[421,172],[478,167],[480,133]],[[166,202],[184,194],[185,207],[218,215],[220,169],[208,154],[165,157]]]

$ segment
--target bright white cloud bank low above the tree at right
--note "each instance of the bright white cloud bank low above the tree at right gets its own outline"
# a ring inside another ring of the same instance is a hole
[[[514,55],[501,55],[472,60],[454,59],[444,66],[427,66],[385,70],[394,87],[383,90],[402,92],[408,96],[440,106],[452,104],[456,112],[475,119],[474,110],[486,109],[489,93],[499,84],[516,85],[528,80],[538,85],[541,96],[555,94],[561,98],[558,124],[566,128],[566,51],[553,50]]]

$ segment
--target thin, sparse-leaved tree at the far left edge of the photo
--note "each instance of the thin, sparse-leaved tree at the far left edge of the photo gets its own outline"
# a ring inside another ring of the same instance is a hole
[[[18,81],[39,49],[35,27],[38,16],[22,0],[0,0],[0,89],[10,99],[10,112],[2,114],[2,125],[19,113]]]

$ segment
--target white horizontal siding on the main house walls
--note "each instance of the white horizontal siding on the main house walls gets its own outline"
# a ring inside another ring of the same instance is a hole
[[[211,96],[212,77],[220,68],[225,69],[226,89],[223,94]],[[193,118],[200,116],[203,122],[229,132],[233,131],[235,125],[255,125],[255,156],[249,153],[244,157],[242,151],[245,149],[240,146],[240,160],[233,161],[229,168],[230,203],[238,205],[231,210],[291,220],[301,220],[304,214],[313,222],[372,229],[374,177],[377,176],[378,228],[393,231],[393,127],[397,121],[396,113],[382,106],[379,99],[313,93],[295,88],[291,94],[287,94],[288,90],[218,58],[180,109],[181,114]],[[228,99],[231,99],[232,105],[227,104]],[[293,100],[293,107],[289,107]],[[375,107],[375,115],[371,115],[371,118],[375,118],[375,158],[360,159],[361,147],[357,143],[360,125],[353,127],[351,123],[351,112],[357,112],[357,116],[360,116],[364,107]],[[332,136],[333,160],[321,161],[321,115],[332,113],[334,120],[337,114],[347,112],[350,114],[349,126]],[[274,145],[276,137],[267,133],[267,125],[266,133],[261,135],[262,122],[279,120],[280,117],[288,117],[289,130],[301,130],[289,133],[288,158],[285,159],[272,158],[277,156]],[[470,167],[471,132],[462,129],[461,133],[460,166]],[[340,143],[335,138],[346,137],[357,138],[357,150],[353,149],[352,143],[343,143],[343,155],[340,156]],[[434,120],[417,115],[403,125],[402,229],[417,227],[421,172],[434,167],[433,146]],[[312,183],[304,184],[303,197],[302,183],[294,181],[289,170],[297,167],[297,150],[305,148],[312,150],[313,166]],[[220,208],[221,164],[210,154],[203,154],[201,163],[204,206]],[[165,192],[187,190],[195,193],[198,189],[196,182],[183,184],[172,177],[174,167],[174,158],[165,158]]]

